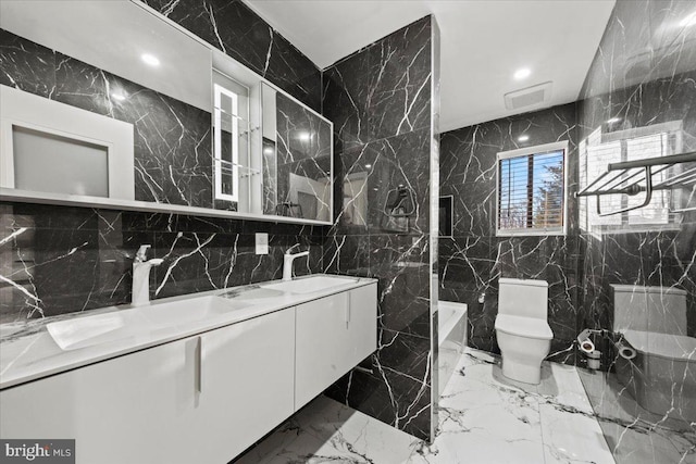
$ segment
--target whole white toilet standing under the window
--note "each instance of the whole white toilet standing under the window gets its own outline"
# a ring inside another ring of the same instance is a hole
[[[498,280],[496,334],[502,353],[502,375],[538,384],[542,361],[551,348],[554,333],[546,321],[548,284],[545,280]]]

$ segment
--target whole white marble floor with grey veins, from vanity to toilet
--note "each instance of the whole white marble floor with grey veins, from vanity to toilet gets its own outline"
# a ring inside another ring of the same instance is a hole
[[[236,462],[374,464],[613,464],[574,367],[544,363],[542,384],[511,381],[499,356],[467,349],[424,443],[320,397]]]

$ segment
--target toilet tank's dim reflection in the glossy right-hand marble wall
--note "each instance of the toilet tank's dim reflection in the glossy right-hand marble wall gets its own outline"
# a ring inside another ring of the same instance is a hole
[[[672,287],[611,285],[613,330],[686,335],[686,291]]]

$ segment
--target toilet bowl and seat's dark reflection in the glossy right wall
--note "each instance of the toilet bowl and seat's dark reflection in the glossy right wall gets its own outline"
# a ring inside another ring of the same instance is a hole
[[[636,350],[633,360],[617,359],[619,381],[644,409],[696,422],[696,338],[625,330]]]

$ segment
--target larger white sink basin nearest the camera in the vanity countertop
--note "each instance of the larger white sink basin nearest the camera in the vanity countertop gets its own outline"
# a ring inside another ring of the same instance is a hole
[[[62,350],[77,350],[136,337],[161,327],[214,318],[249,305],[214,296],[187,298],[60,321],[48,324],[46,328]]]

